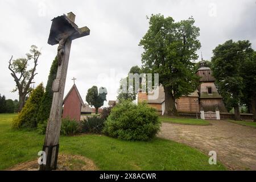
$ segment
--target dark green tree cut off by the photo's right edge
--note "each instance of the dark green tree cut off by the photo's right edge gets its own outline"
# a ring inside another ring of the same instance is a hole
[[[249,112],[254,115],[256,122],[256,51],[247,53],[247,59],[241,65],[243,78],[242,103],[246,104]]]

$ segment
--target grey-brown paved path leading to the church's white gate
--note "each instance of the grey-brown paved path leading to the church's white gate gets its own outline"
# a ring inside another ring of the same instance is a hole
[[[217,152],[230,170],[256,170],[256,129],[227,121],[209,120],[211,126],[163,123],[158,137]]]

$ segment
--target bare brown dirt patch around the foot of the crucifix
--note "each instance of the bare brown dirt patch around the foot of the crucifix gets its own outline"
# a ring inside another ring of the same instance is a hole
[[[92,160],[81,155],[59,155],[56,171],[95,171],[97,166]],[[20,163],[7,171],[38,171],[38,159]]]

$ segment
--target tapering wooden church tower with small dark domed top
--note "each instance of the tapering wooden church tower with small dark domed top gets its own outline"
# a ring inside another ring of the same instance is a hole
[[[200,77],[198,87],[200,108],[204,111],[216,111],[218,109],[220,112],[227,112],[223,99],[214,84],[215,78],[212,75],[212,70],[203,59],[196,75]]]

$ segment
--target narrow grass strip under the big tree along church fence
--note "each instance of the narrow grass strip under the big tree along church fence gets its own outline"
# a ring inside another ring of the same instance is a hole
[[[160,121],[166,123],[176,123],[183,125],[210,125],[210,123],[204,119],[192,119],[192,118],[170,118],[170,117],[160,117]]]

